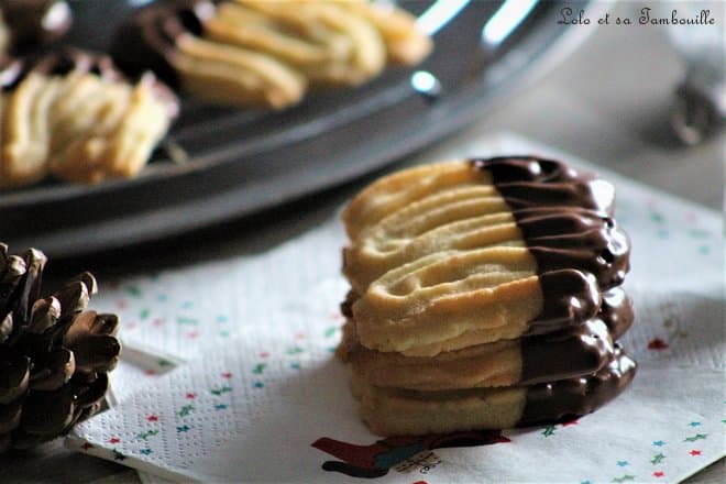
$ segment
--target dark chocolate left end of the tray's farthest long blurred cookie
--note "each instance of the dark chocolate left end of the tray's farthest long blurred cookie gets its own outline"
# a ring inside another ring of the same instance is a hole
[[[179,79],[173,66],[177,37],[200,35],[204,22],[216,12],[209,0],[166,0],[133,12],[119,28],[111,46],[117,64],[130,75],[153,70],[174,88]]]

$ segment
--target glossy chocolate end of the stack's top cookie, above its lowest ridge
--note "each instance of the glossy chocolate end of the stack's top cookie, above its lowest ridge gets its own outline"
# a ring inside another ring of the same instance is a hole
[[[491,173],[513,208],[538,273],[574,268],[595,276],[601,289],[623,283],[630,243],[610,218],[613,186],[551,160],[530,156],[473,160]]]

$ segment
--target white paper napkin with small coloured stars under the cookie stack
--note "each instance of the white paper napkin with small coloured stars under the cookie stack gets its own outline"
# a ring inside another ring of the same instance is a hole
[[[495,153],[587,166],[507,134],[460,155]],[[470,448],[356,449],[345,455],[358,470],[328,468],[361,473],[377,459],[391,466],[384,479],[407,483],[678,482],[724,455],[721,219],[595,169],[615,183],[616,217],[632,240],[626,289],[637,319],[624,338],[640,363],[632,386],[575,425],[505,431],[509,442]],[[96,307],[124,322],[127,359],[113,375],[120,404],[77,426],[68,444],[183,481],[349,479],[322,469],[342,462],[340,454],[311,446],[326,437],[339,443],[319,447],[340,451],[350,450],[343,442],[377,440],[360,424],[332,356],[346,290],[343,243],[340,223],[330,219],[261,254],[105,288]]]

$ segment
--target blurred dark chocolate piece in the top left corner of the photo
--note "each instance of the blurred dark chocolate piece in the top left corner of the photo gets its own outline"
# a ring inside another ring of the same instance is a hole
[[[0,0],[0,12],[10,32],[12,55],[61,38],[73,23],[70,8],[62,0]]]

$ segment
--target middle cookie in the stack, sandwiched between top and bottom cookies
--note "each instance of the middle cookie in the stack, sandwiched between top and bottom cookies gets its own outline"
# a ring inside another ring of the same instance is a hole
[[[623,293],[620,288],[612,292]],[[578,327],[427,358],[367,349],[360,343],[355,323],[349,319],[337,353],[358,378],[378,387],[446,391],[521,386],[598,371],[613,359],[615,339],[631,322],[629,299],[608,295],[598,315]]]

